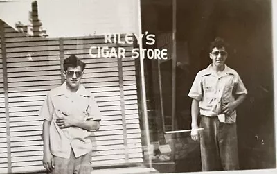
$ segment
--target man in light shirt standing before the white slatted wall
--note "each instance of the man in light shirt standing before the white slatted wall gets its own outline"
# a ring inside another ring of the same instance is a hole
[[[101,114],[89,90],[80,84],[85,63],[75,55],[64,60],[66,81],[52,89],[42,105],[43,164],[58,174],[91,173],[91,131],[99,130]]]

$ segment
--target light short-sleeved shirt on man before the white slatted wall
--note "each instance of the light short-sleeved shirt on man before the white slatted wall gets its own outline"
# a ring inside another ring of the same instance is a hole
[[[39,112],[45,120],[51,121],[50,149],[57,157],[69,159],[71,148],[75,157],[87,154],[92,150],[91,131],[78,127],[60,129],[56,119],[69,116],[71,119],[100,121],[101,114],[91,92],[80,85],[75,94],[66,89],[66,83],[52,89]]]

